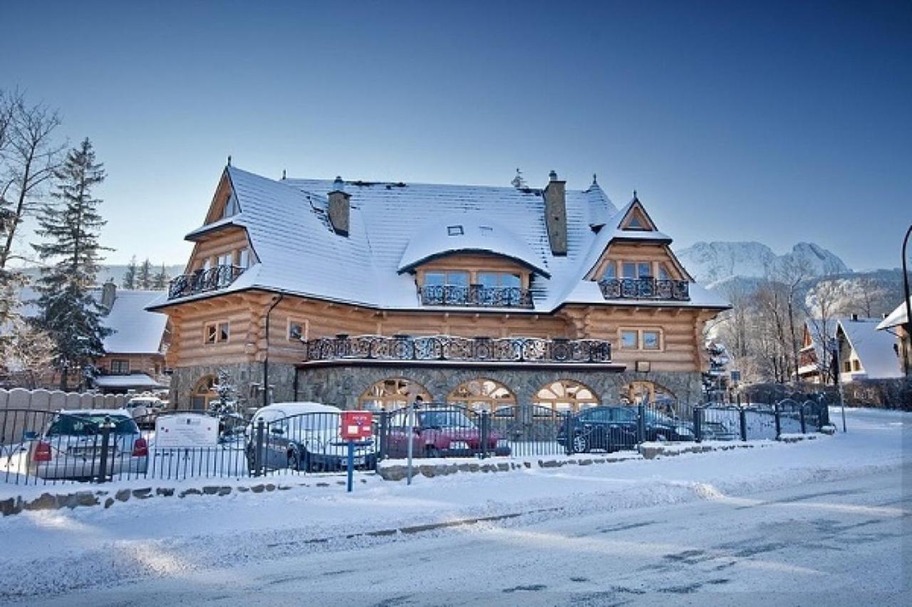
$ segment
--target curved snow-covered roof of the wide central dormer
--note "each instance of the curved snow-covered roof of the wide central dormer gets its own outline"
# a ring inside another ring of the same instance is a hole
[[[513,231],[482,213],[453,215],[422,225],[402,253],[399,272],[409,271],[422,262],[450,252],[490,252],[509,257],[544,276],[551,275],[539,253]]]

